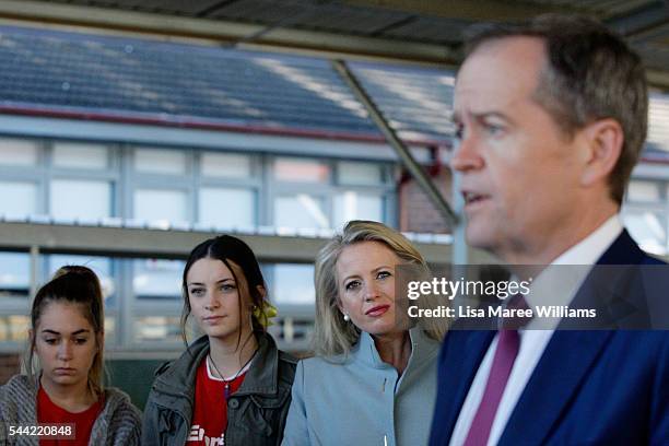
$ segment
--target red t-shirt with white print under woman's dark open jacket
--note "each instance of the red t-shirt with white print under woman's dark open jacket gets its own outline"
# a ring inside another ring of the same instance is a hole
[[[192,424],[186,441],[188,446],[222,445],[227,427],[227,402],[225,401],[225,382],[214,378],[208,371],[207,357],[198,366],[196,375],[195,410]],[[230,383],[232,395],[244,382],[246,372]]]

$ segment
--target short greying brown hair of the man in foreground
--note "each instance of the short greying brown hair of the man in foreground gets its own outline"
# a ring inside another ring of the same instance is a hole
[[[514,36],[545,43],[548,64],[535,101],[572,137],[597,119],[617,120],[623,130],[620,159],[609,176],[620,204],[648,127],[648,92],[641,58],[600,22],[580,15],[545,14],[525,24],[478,24],[466,32],[470,55],[491,40]]]

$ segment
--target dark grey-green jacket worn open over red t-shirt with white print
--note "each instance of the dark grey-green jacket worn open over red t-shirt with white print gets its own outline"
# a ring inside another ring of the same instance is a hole
[[[142,445],[181,446],[195,408],[197,369],[209,353],[209,339],[195,341],[176,361],[161,366],[144,408]],[[227,401],[225,445],[279,445],[291,404],[296,360],[259,334],[258,354],[242,387]]]

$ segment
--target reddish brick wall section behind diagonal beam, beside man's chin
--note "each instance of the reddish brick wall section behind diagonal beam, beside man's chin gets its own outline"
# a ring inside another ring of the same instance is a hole
[[[446,166],[433,167],[431,178],[448,202],[450,199],[450,171]],[[404,179],[399,190],[400,231],[416,233],[450,233],[450,227],[413,179]]]

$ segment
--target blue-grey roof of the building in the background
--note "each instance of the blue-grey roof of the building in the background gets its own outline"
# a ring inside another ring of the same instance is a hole
[[[379,134],[322,59],[5,26],[0,63],[5,107]],[[401,137],[450,139],[451,72],[351,67]],[[648,148],[669,157],[669,96],[659,93],[650,96]]]

